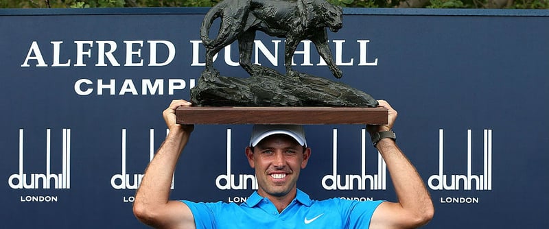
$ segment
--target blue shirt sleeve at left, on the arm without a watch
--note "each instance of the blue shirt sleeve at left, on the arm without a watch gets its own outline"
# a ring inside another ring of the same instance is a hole
[[[194,217],[194,224],[197,229],[215,228],[215,211],[219,207],[220,202],[216,203],[204,203],[204,202],[191,202],[188,200],[181,200],[181,202],[187,204],[191,209]]]

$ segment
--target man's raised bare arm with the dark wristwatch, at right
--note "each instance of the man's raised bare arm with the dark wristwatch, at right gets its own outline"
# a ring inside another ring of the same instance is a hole
[[[397,119],[397,111],[386,101],[380,100],[379,106],[389,111],[388,125],[369,125],[371,135],[390,131]],[[393,139],[382,138],[375,147],[387,164],[398,202],[380,204],[373,213],[370,228],[417,228],[427,224],[434,215],[434,206],[415,167]]]

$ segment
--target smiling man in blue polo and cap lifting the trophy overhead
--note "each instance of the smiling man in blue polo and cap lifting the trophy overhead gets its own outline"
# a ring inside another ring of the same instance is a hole
[[[310,200],[297,189],[296,182],[311,149],[301,126],[280,125],[253,128],[246,157],[255,169],[259,188],[246,203],[170,201],[172,174],[194,129],[193,125],[175,123],[178,106],[191,104],[175,100],[164,110],[170,134],[135,195],[134,213],[145,224],[156,228],[415,228],[432,219],[430,195],[391,131],[397,112],[383,100],[379,106],[388,109],[388,125],[368,125],[366,129],[386,162],[399,202]]]

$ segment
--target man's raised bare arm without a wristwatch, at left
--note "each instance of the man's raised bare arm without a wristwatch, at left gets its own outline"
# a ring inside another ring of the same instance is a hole
[[[177,160],[194,130],[194,125],[176,124],[175,110],[178,106],[191,104],[185,100],[174,100],[163,111],[170,133],[145,169],[133,204],[137,219],[155,228],[195,228],[187,205],[168,200]]]

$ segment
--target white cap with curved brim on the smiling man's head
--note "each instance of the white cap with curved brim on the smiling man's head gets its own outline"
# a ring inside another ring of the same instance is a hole
[[[302,125],[254,125],[250,137],[250,147],[255,147],[257,143],[272,134],[286,134],[294,138],[299,145],[307,146],[305,130]]]

